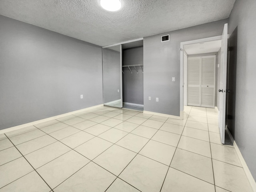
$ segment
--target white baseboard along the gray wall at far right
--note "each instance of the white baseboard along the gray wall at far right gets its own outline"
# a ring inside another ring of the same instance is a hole
[[[236,144],[236,141],[234,140],[234,138],[231,135],[230,131],[228,130],[227,126],[226,126],[226,130],[228,132],[228,136],[231,139],[231,142],[233,142],[234,148],[236,150],[236,154],[237,154],[237,156],[238,156],[238,158],[239,158],[239,160],[240,160],[240,162],[242,164],[242,167],[244,168],[244,172],[245,172],[245,174],[246,174],[246,176],[248,178],[248,181],[249,181],[249,183],[250,183],[250,185],[252,187],[252,190],[254,192],[256,192],[256,182],[255,182],[255,180],[254,180],[254,178],[252,176],[252,173],[250,172],[250,170],[249,170],[249,168],[248,168],[248,166],[247,166],[247,164],[246,164],[246,162],[244,160],[244,157],[242,156],[242,153],[240,152],[240,150],[239,150],[239,148],[238,148],[238,146]]]

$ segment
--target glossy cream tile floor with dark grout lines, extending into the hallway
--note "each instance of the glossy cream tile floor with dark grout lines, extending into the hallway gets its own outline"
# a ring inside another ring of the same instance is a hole
[[[0,192],[252,192],[217,112],[100,107],[0,135]]]

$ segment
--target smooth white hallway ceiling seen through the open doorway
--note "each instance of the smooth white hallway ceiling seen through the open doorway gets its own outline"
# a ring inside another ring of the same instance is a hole
[[[221,40],[208,41],[203,43],[195,43],[184,46],[184,50],[188,55],[200,53],[218,52],[221,47]]]

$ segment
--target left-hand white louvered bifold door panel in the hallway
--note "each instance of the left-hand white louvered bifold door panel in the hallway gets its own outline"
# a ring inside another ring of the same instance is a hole
[[[188,105],[200,106],[201,57],[188,58]]]

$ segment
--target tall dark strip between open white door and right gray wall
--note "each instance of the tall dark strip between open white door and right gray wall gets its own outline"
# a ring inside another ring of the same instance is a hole
[[[235,139],[237,27],[229,37],[226,125]],[[229,92],[230,91],[230,92]]]

